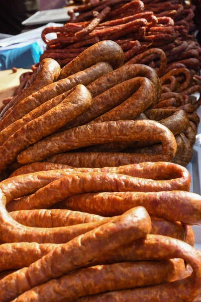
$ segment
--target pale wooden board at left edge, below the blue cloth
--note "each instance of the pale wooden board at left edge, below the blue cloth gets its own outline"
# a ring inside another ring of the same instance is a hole
[[[18,68],[17,72],[12,69],[0,71],[0,106],[5,98],[12,97],[20,84],[20,75],[31,69]]]

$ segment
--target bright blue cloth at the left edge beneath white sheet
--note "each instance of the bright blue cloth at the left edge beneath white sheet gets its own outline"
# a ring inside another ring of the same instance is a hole
[[[0,52],[0,70],[12,67],[30,69],[31,65],[39,62],[42,50],[37,42],[21,48]]]

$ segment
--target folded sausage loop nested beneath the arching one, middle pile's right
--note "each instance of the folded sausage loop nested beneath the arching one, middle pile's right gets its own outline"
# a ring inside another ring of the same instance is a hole
[[[151,81],[139,77],[130,79],[95,97],[92,106],[64,128],[73,128],[91,121],[134,119],[153,102],[155,102],[155,92]]]

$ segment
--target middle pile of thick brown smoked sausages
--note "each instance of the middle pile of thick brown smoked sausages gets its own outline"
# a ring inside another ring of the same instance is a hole
[[[199,101],[181,105],[180,94],[161,95],[154,69],[123,63],[122,48],[110,40],[61,70],[44,59],[1,113],[0,172],[41,161],[88,168],[147,161],[187,165],[195,139],[191,126],[198,120],[184,110]],[[190,81],[186,75],[179,88]],[[171,100],[181,106],[160,108]]]

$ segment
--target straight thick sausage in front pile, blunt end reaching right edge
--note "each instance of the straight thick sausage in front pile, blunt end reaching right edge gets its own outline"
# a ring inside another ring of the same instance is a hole
[[[96,215],[114,216],[140,205],[144,206],[152,217],[181,221],[186,224],[200,224],[199,203],[198,194],[182,191],[104,192],[73,195],[61,201],[57,206],[61,209],[84,210]]]

